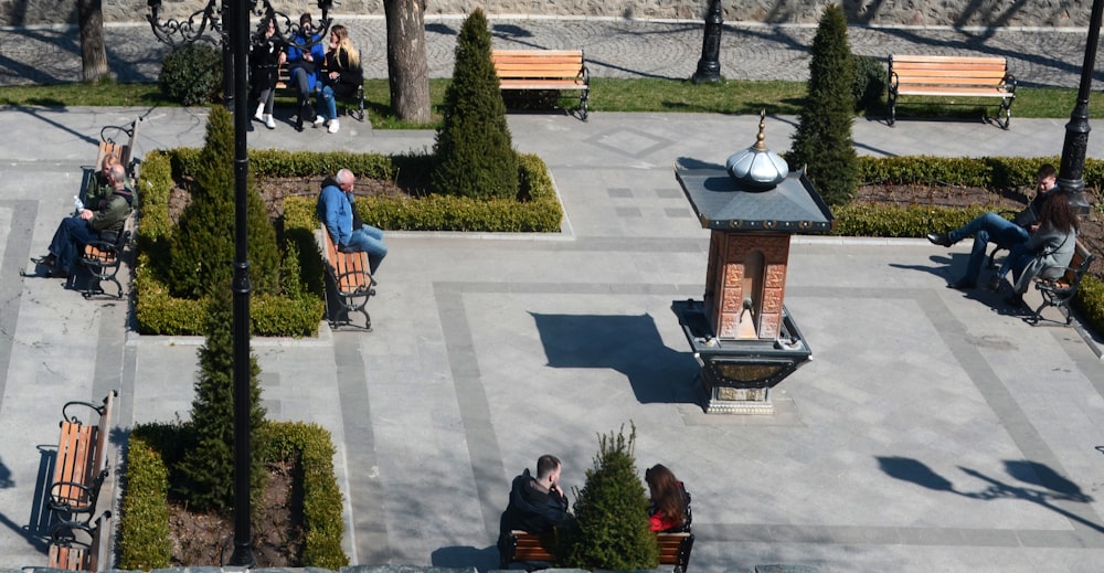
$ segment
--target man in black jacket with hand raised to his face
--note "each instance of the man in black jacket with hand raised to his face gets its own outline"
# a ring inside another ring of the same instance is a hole
[[[535,478],[529,468],[513,478],[510,503],[499,521],[500,551],[505,549],[503,544],[512,530],[540,534],[569,521],[567,497],[560,489],[561,469],[555,456],[543,455],[537,460]]]

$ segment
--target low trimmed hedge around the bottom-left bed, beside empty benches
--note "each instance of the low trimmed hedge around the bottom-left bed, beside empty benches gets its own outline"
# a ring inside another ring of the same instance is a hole
[[[341,490],[333,475],[333,442],[317,424],[267,422],[263,445],[268,461],[293,461],[302,479],[305,541],[301,566],[337,571],[349,564],[341,549],[344,521]],[[153,571],[170,566],[169,467],[189,442],[188,424],[142,424],[130,435],[126,494],[119,520],[119,569]]]

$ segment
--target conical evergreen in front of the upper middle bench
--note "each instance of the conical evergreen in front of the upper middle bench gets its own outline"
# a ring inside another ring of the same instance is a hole
[[[445,91],[434,153],[433,189],[474,199],[518,197],[518,155],[481,9],[464,21],[456,41],[456,67]]]

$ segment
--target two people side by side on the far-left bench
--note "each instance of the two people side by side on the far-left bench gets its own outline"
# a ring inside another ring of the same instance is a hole
[[[31,259],[45,267],[51,277],[68,278],[85,245],[96,241],[115,243],[123,233],[134,206],[134,189],[118,157],[104,156],[99,171],[85,190],[84,203],[57,225],[49,252]]]

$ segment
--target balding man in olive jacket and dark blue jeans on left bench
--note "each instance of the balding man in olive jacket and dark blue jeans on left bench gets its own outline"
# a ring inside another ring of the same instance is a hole
[[[91,205],[92,209],[82,209],[63,219],[50,242],[50,253],[31,259],[49,268],[50,276],[68,278],[73,262],[84,245],[97,240],[114,243],[123,233],[134,194],[126,187],[127,173],[121,165],[113,163],[105,176],[112,193]]]

